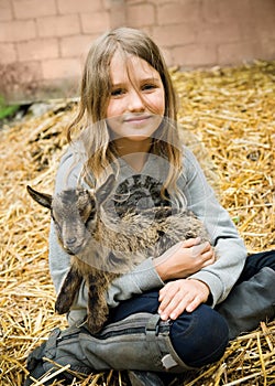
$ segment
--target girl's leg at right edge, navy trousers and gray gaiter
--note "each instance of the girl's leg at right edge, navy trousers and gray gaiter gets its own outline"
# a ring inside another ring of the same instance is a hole
[[[275,250],[248,257],[244,269],[228,298],[217,311],[229,325],[230,340],[258,326],[275,315]]]

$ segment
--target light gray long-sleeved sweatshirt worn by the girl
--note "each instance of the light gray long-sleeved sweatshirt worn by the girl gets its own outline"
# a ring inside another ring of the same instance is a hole
[[[212,307],[223,301],[238,280],[246,258],[246,249],[228,212],[219,204],[213,190],[208,184],[205,174],[189,149],[184,148],[183,173],[177,182],[183,194],[185,206],[195,213],[207,227],[212,245],[219,256],[217,261],[190,276],[208,285],[212,297]],[[118,185],[131,185],[135,174],[129,164],[120,160]],[[56,176],[55,191],[75,187],[79,183],[81,161],[74,154],[72,148],[67,150],[61,161]],[[140,180],[145,182],[148,190],[150,182],[165,179],[167,161],[150,154],[143,170],[139,173]],[[129,182],[130,181],[130,182]],[[85,185],[85,183],[80,184]],[[144,185],[143,184],[143,185]],[[63,280],[70,266],[70,256],[58,244],[53,223],[50,232],[50,270],[56,291],[61,289]],[[160,289],[164,282],[157,275],[152,258],[145,259],[133,271],[116,279],[107,292],[109,307],[116,307],[120,301],[147,290]],[[75,303],[68,314],[69,324],[82,320],[87,308],[87,288],[82,283]]]

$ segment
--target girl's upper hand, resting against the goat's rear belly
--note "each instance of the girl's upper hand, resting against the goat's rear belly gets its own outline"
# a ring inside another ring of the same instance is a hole
[[[177,243],[154,259],[154,265],[161,279],[167,281],[187,278],[215,260],[215,250],[210,243],[200,244],[200,238],[189,238]]]

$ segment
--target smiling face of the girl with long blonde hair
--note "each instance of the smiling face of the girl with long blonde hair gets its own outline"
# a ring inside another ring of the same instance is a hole
[[[148,139],[165,111],[164,86],[158,72],[138,56],[114,54],[110,64],[111,95],[108,126],[114,139]]]

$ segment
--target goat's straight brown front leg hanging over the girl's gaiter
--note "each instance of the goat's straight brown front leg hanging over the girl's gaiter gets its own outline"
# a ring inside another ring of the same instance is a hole
[[[99,332],[109,315],[106,291],[109,282],[105,274],[88,276],[88,318],[87,324],[91,333]]]

